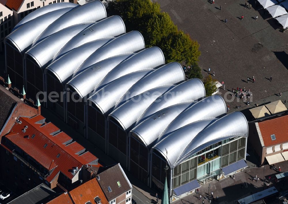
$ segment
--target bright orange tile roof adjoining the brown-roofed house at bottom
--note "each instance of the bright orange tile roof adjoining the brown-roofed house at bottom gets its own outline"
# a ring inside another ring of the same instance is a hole
[[[108,203],[103,191],[101,190],[101,187],[96,181],[96,178],[71,190],[69,194],[74,203],[86,203],[88,201],[95,203],[94,198],[97,196],[101,199],[102,204]]]

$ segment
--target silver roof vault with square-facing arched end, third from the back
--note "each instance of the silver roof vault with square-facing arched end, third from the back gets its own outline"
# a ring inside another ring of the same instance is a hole
[[[119,54],[139,52],[145,49],[145,42],[139,31],[131,31],[116,37],[105,46],[91,54],[77,70],[78,72],[97,62]]]

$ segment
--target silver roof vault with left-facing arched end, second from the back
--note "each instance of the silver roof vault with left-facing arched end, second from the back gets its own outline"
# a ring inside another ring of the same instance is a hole
[[[25,52],[24,58],[26,58],[27,54],[30,55],[35,59],[39,67],[44,69],[44,66],[54,58],[70,39],[90,25],[91,23],[76,24],[53,33]],[[29,67],[27,68],[29,69]]]

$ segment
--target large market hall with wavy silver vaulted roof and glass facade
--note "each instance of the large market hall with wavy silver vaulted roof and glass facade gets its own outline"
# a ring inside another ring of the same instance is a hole
[[[31,100],[43,91],[43,106],[147,186],[161,192],[167,176],[171,199],[247,166],[244,115],[206,98],[201,80],[185,81],[179,63],[165,65],[160,48],[145,49],[100,1],[37,11],[5,38],[12,88],[24,85]]]

